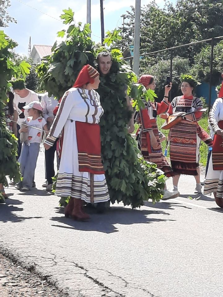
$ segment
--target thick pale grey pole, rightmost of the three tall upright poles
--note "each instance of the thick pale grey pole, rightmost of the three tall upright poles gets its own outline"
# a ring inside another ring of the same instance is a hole
[[[135,0],[135,28],[134,28],[133,71],[137,75],[139,75],[140,6],[141,6],[141,0]]]

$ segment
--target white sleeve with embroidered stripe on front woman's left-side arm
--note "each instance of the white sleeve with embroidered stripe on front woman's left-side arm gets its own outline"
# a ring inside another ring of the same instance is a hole
[[[57,115],[54,119],[54,122],[50,128],[50,133],[46,137],[44,143],[53,146],[56,139],[59,137],[63,127],[68,119],[68,116],[75,105],[75,94],[76,91],[64,93],[63,98],[60,102]]]

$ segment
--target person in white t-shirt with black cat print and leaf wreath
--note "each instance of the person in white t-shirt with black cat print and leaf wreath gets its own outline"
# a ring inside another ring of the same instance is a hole
[[[28,117],[28,111],[24,110],[24,106],[32,101],[39,101],[35,92],[25,87],[25,82],[22,79],[12,80],[12,88],[14,91],[13,106],[18,113],[17,130],[19,131],[20,125]],[[18,157],[20,157],[22,144],[20,143],[20,135],[18,137]]]

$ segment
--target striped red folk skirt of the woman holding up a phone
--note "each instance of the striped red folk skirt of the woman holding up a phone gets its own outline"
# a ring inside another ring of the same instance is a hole
[[[160,144],[159,131],[155,119],[151,120],[151,127],[158,144]],[[150,143],[149,132],[142,132],[141,126],[137,131],[136,140],[138,141],[138,148],[140,149],[144,160],[155,163],[157,168],[162,170],[167,177],[174,175],[171,167],[162,153],[161,144],[160,149],[153,149]]]

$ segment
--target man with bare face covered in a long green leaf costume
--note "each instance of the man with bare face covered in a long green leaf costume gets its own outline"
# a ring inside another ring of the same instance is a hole
[[[143,200],[157,201],[164,185],[162,174],[142,159],[129,134],[134,131],[134,124],[126,93],[128,76],[107,51],[98,54],[97,62],[101,81],[97,91],[104,109],[100,121],[102,160],[111,202],[122,201],[136,208],[143,205]]]

